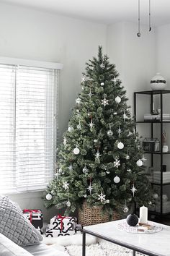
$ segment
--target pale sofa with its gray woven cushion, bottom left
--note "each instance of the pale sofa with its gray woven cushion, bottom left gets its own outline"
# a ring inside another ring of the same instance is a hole
[[[0,256],[68,256],[42,244],[42,236],[9,197],[0,197]]]

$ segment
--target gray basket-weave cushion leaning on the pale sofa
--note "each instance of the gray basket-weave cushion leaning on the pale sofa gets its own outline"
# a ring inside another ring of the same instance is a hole
[[[21,247],[40,244],[42,236],[8,197],[0,197],[0,233]]]

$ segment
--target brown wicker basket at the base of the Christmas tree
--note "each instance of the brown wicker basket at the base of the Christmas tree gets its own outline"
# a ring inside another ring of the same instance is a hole
[[[120,219],[120,215],[115,212],[112,216],[112,221],[118,219]],[[90,207],[89,205],[87,205],[86,201],[84,201],[82,205],[82,210],[79,209],[79,223],[82,226],[89,226],[104,223],[107,221],[110,221],[109,214],[103,213],[102,206]]]

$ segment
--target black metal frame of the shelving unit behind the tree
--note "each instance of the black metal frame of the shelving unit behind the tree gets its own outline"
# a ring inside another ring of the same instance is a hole
[[[170,121],[163,121],[163,95],[169,94],[170,90],[146,90],[146,91],[140,91],[134,93],[134,118],[136,124],[151,124],[151,137],[153,138],[153,125],[159,124],[160,125],[160,151],[158,152],[148,152],[145,151],[145,153],[151,154],[151,166],[153,166],[153,155],[160,155],[160,167],[161,167],[161,182],[151,182],[152,185],[160,186],[160,213],[156,211],[150,211],[150,214],[154,214],[156,216],[159,216],[160,220],[162,221],[163,216],[167,216],[170,213],[163,213],[163,187],[170,185],[170,182],[163,183],[163,164],[164,164],[164,155],[170,154],[170,152],[164,153],[162,151],[163,148],[163,140],[162,140],[162,134],[163,134],[163,127],[164,124],[170,123]],[[160,109],[161,109],[161,117],[160,120],[151,120],[151,121],[137,121],[137,95],[150,95],[150,102],[151,102],[151,113],[153,112],[153,95],[159,95],[160,96]]]

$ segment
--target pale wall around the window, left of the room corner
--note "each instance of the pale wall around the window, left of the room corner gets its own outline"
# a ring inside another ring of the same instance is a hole
[[[106,26],[74,20],[32,9],[0,4],[0,56],[63,63],[59,88],[59,133],[66,129],[71,108],[81,90],[85,62],[106,50]],[[55,210],[45,210],[42,192],[12,195],[21,208],[41,208],[45,218]]]

